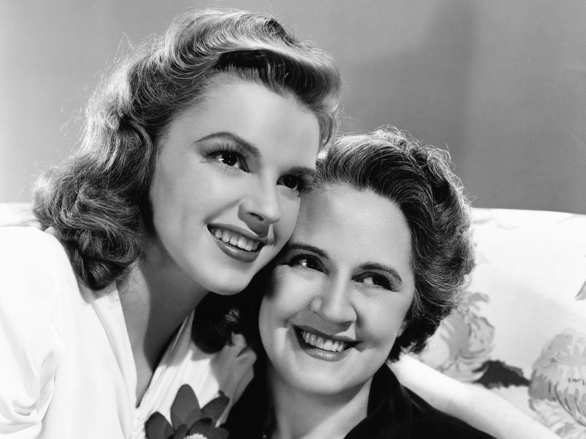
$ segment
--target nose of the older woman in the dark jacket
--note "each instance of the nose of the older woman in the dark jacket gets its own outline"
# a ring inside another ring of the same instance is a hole
[[[352,290],[343,279],[327,285],[309,303],[309,310],[326,323],[340,326],[355,323],[357,314],[352,303]]]

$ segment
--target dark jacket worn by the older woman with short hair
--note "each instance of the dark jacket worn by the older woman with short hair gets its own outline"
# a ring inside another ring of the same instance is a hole
[[[223,426],[230,431],[230,439],[263,438],[270,413],[263,360],[259,358],[255,364],[253,381]],[[374,374],[367,413],[345,439],[494,439],[431,407],[402,386],[386,365]]]

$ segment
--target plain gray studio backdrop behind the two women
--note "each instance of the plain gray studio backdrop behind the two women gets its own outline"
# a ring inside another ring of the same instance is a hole
[[[0,202],[30,200],[73,148],[120,47],[205,6],[272,12],[332,52],[342,131],[391,124],[447,148],[476,207],[586,214],[583,0],[2,0]]]

